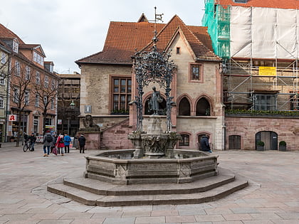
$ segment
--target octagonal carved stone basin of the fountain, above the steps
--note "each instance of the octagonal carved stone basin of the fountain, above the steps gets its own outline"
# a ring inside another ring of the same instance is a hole
[[[174,159],[132,159],[135,149],[85,156],[85,178],[114,184],[189,183],[218,174],[217,158],[204,151],[174,150]]]

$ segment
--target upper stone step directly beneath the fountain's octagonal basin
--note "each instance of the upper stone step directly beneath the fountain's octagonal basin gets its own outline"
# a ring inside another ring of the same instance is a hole
[[[234,175],[219,175],[204,178],[192,183],[151,183],[132,185],[115,185],[91,178],[65,178],[63,183],[80,190],[105,196],[135,196],[158,194],[183,194],[208,191],[235,180]]]

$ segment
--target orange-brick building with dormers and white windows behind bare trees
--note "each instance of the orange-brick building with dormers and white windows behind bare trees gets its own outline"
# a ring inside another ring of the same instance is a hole
[[[60,79],[53,73],[53,62],[44,62],[46,55],[40,44],[25,43],[2,24],[0,45],[9,50],[0,63],[0,70],[5,69],[8,99],[4,107],[0,105],[0,114],[16,115],[16,121],[10,121],[9,115],[0,120],[1,139],[17,139],[18,132],[21,137],[23,132],[43,134],[46,127],[55,129],[57,99],[53,90]]]

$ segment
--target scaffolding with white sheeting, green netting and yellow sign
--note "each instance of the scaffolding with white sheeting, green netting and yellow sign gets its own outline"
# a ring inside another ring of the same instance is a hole
[[[299,110],[299,12],[224,6],[216,4],[214,0],[206,0],[205,5],[202,23],[208,26],[215,53],[223,59],[224,103],[227,107],[245,110]],[[295,27],[293,23],[288,23],[290,17],[284,20],[285,16],[290,16],[290,12],[293,14]],[[266,35],[270,38],[274,35],[273,39],[266,39],[265,43],[263,39],[256,39],[259,35],[256,29],[261,31],[263,23],[254,25],[256,18],[250,17],[254,14],[263,14],[272,20],[268,21],[266,29],[272,28],[274,34]],[[237,16],[241,16],[241,19],[236,18]],[[278,25],[272,27],[271,23]],[[292,26],[293,33],[290,33],[288,26]],[[290,36],[283,36],[283,31],[287,29]]]

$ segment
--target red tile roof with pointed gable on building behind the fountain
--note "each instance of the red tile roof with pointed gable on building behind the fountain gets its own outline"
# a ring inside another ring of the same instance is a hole
[[[157,23],[157,47],[159,51],[167,48],[169,41],[177,31],[181,31],[194,50],[197,58],[219,60],[213,53],[211,39],[206,27],[186,26],[179,16],[174,16],[169,23]],[[83,63],[132,64],[135,50],[150,46],[154,36],[154,23],[149,22],[111,22],[103,51],[77,60]]]

